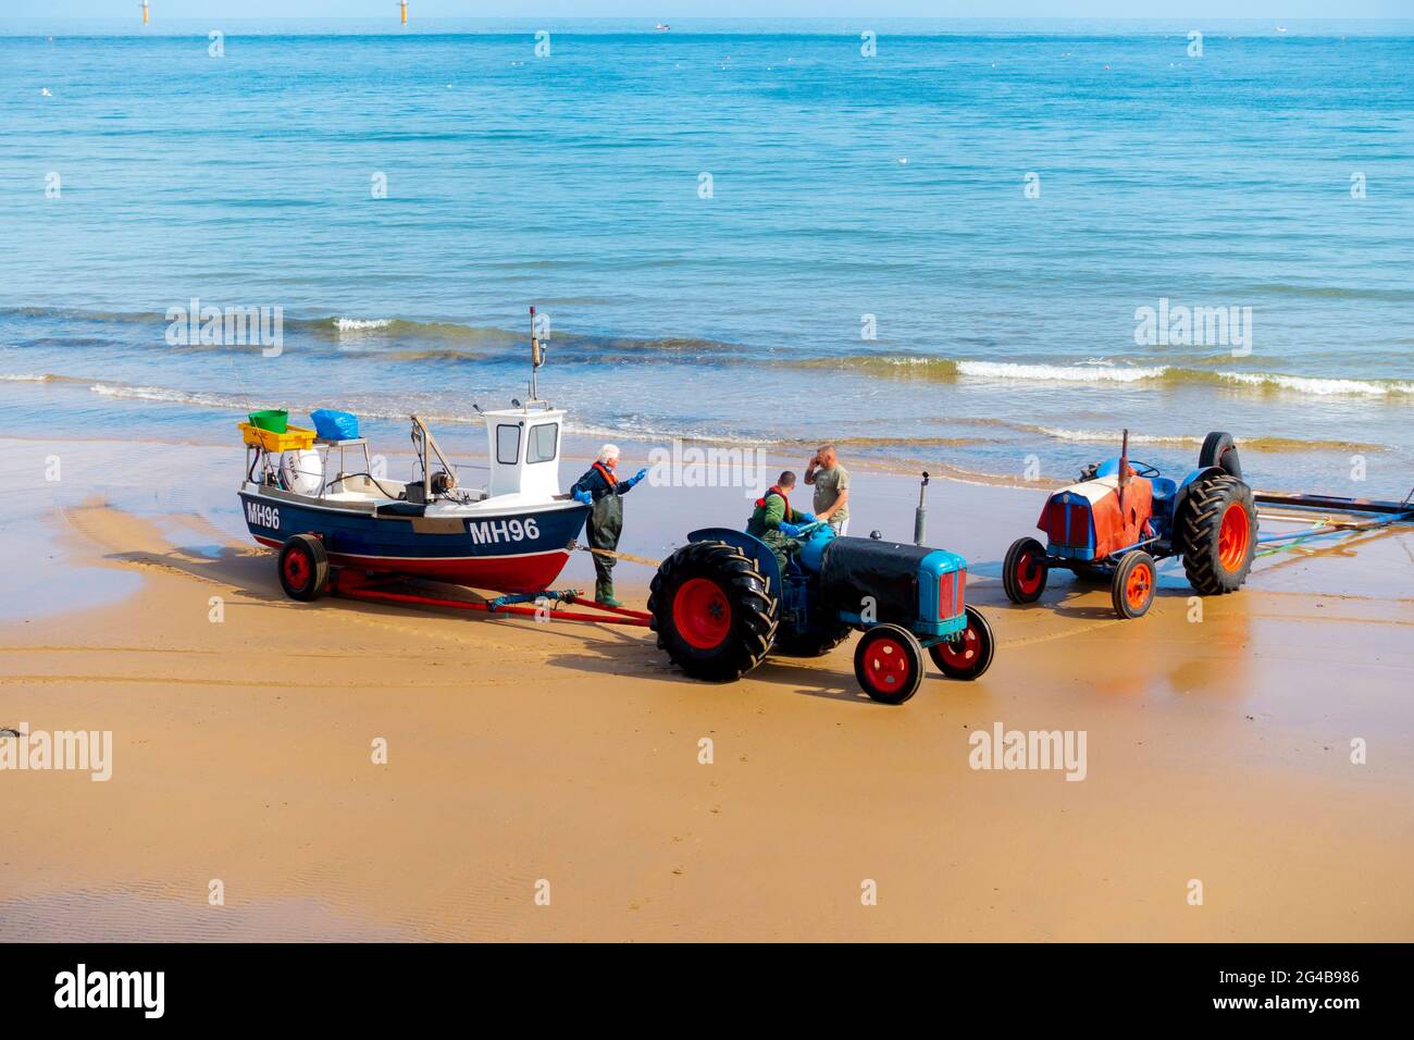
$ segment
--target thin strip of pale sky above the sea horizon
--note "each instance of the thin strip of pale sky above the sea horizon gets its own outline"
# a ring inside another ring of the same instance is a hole
[[[396,0],[150,0],[154,18],[396,18]],[[139,0],[6,0],[8,18],[127,18]],[[414,18],[1414,18],[1414,0],[409,0]]]

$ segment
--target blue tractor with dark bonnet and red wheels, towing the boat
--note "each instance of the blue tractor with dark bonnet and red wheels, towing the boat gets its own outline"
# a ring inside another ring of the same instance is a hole
[[[925,649],[950,679],[976,679],[991,665],[991,628],[963,604],[962,556],[877,535],[837,538],[819,522],[802,536],[782,574],[765,542],[748,533],[691,532],[650,586],[659,648],[694,678],[732,682],[768,654],[822,657],[858,630],[854,675],[888,705],[918,692]]]

